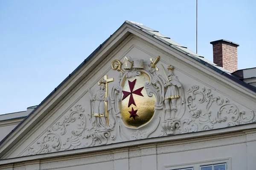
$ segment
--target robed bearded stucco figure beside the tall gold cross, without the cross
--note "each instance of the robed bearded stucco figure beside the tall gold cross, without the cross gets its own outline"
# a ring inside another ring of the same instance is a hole
[[[90,108],[91,114],[95,118],[92,123],[96,130],[104,130],[108,128],[108,110],[111,108],[111,105],[106,103],[108,98],[106,98],[106,83],[105,79],[100,80],[99,90],[95,94],[91,95],[90,91]],[[92,119],[93,119],[92,117]]]

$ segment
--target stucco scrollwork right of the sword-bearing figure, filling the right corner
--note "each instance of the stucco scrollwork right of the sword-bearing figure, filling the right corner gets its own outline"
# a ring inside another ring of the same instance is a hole
[[[230,103],[228,99],[224,102],[224,99],[221,99],[220,96],[213,96],[211,92],[211,89],[202,88],[199,90],[198,85],[193,85],[187,90],[189,95],[187,107],[192,119],[199,120],[200,130],[213,129],[215,124],[221,122],[227,122],[227,126],[253,122],[255,118],[253,111],[250,111],[250,113],[239,111],[239,108]],[[198,100],[196,101],[196,99]],[[194,102],[197,102],[197,104],[194,104]],[[211,108],[213,104],[215,106]]]

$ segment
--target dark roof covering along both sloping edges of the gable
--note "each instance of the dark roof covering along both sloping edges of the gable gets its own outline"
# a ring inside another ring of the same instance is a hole
[[[140,23],[135,23],[132,21],[125,21],[125,23],[129,24],[130,26],[133,26],[134,28],[139,29],[140,31],[145,32],[146,34],[150,35],[151,37],[154,37],[155,39],[165,43],[166,45],[169,45],[172,48],[175,48],[177,51],[182,52],[183,54],[186,54],[188,57],[191,57],[192,59],[195,59],[198,62],[201,62],[201,64],[206,65],[207,67],[213,69],[214,71],[218,72],[219,74],[239,83],[240,85],[250,89],[251,91],[256,93],[256,88],[254,88],[252,85],[248,85],[246,82],[241,81],[238,77],[233,76],[232,74],[230,74],[230,71],[222,68],[221,66],[216,65],[215,63],[205,59],[202,56],[199,56],[198,54],[194,53],[193,51],[189,50],[188,48],[180,45],[179,43],[171,40],[169,37],[164,36],[163,34],[160,34],[159,31],[156,31],[154,29],[148,28],[147,26],[143,26],[143,24]],[[125,24],[123,23],[122,26]],[[120,26],[120,27],[122,27]],[[117,29],[118,30],[118,29]],[[117,31],[116,30],[116,31]],[[113,34],[112,34],[113,35]],[[112,36],[111,35],[111,36]],[[110,36],[110,37],[111,37]],[[110,38],[108,37],[108,39]],[[55,91],[58,90],[58,88],[61,87],[62,84],[64,84],[64,82],[67,81],[67,79],[69,79],[77,70],[79,70],[79,68],[81,68],[91,57],[93,57],[93,55],[99,51],[99,49],[102,47],[102,45],[105,44],[105,42],[108,41],[105,40],[102,44],[99,45],[98,48],[96,48],[86,59],[84,59],[84,61],[71,73],[68,75],[68,77],[66,79],[64,79],[61,84],[59,84],[31,113],[29,113],[28,116],[26,116],[25,119],[23,119],[23,121],[21,121],[19,123],[19,125],[17,125],[1,142],[0,144],[3,143],[3,141],[12,134],[13,131],[15,131],[17,129],[17,127],[19,127],[32,113],[34,113],[38,107],[40,107],[53,93],[55,93]]]

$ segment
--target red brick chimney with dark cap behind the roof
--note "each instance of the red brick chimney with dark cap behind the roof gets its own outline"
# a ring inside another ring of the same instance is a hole
[[[210,44],[213,49],[213,62],[231,73],[237,71],[237,47],[239,44],[227,40],[212,41]]]

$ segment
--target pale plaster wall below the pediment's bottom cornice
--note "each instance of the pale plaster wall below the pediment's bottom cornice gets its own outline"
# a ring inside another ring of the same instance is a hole
[[[147,139],[149,140],[149,139]],[[255,170],[256,132],[223,134],[9,164],[3,170],[175,170],[227,162],[227,170]],[[22,166],[23,164],[23,166]],[[14,168],[12,168],[12,166]]]

